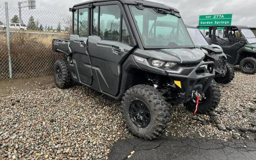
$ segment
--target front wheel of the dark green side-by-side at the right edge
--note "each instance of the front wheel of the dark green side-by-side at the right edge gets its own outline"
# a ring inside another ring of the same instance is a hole
[[[249,67],[248,67],[249,66]],[[246,57],[240,62],[240,68],[245,74],[256,73],[256,58]]]

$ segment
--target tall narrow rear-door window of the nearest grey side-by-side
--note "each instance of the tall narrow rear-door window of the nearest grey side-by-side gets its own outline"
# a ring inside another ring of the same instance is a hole
[[[88,36],[88,8],[79,9],[78,16],[78,35],[81,37]]]

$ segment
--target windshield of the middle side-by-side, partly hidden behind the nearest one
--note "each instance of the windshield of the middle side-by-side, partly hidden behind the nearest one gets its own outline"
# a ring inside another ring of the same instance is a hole
[[[195,45],[209,45],[199,29],[187,28],[187,30]]]

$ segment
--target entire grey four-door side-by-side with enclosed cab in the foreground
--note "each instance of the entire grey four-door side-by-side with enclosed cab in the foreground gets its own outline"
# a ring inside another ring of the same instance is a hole
[[[177,9],[144,0],[91,0],[70,11],[73,34],[52,44],[53,51],[68,55],[55,62],[59,88],[74,80],[122,99],[127,127],[150,140],[166,128],[168,102],[198,113],[219,104],[214,62],[203,61],[204,52],[195,49]]]

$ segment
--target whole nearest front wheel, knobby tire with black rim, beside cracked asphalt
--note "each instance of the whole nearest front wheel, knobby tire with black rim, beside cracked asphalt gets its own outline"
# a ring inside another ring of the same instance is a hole
[[[121,103],[123,119],[134,135],[152,140],[165,131],[170,117],[169,108],[154,87],[133,86],[126,91]]]

